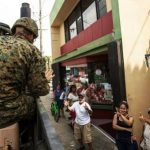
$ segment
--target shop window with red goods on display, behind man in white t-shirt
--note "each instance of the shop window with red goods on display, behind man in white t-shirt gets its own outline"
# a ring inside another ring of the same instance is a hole
[[[89,65],[92,81],[90,82],[89,103],[91,105],[113,104],[112,87],[106,62],[94,62]]]

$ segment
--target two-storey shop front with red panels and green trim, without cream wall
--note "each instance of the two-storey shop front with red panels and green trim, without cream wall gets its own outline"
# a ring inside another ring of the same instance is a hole
[[[56,16],[62,16],[63,10],[71,4],[65,1]],[[92,121],[106,131],[112,131],[115,106],[126,98],[119,16],[117,9],[112,11],[112,6],[115,7],[116,3],[111,5],[110,0],[78,1],[67,16],[64,13],[63,20],[53,18],[51,26],[54,50],[52,68],[57,77],[53,79],[54,86],[57,83],[65,85],[70,77],[76,82],[88,82],[94,89],[90,101]],[[60,38],[56,38],[56,34],[64,38],[58,40]],[[59,55],[55,57],[56,54]],[[111,134],[111,131],[107,132]]]

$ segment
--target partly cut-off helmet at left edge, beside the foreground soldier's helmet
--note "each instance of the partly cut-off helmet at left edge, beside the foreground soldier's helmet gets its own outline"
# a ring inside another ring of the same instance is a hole
[[[0,36],[1,35],[10,35],[11,34],[11,30],[9,25],[0,22]]]

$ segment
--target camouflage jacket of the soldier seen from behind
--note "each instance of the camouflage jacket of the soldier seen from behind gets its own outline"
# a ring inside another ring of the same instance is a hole
[[[25,89],[28,89],[29,95]],[[28,41],[0,37],[0,128],[34,112],[34,98],[48,94],[45,61]]]

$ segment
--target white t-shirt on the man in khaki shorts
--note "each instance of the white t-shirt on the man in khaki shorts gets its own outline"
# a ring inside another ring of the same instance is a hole
[[[77,101],[71,106],[71,110],[76,112],[75,122],[79,125],[85,125],[91,121],[88,111],[84,108],[85,105],[91,110],[91,107],[87,102],[79,104],[79,101]]]

